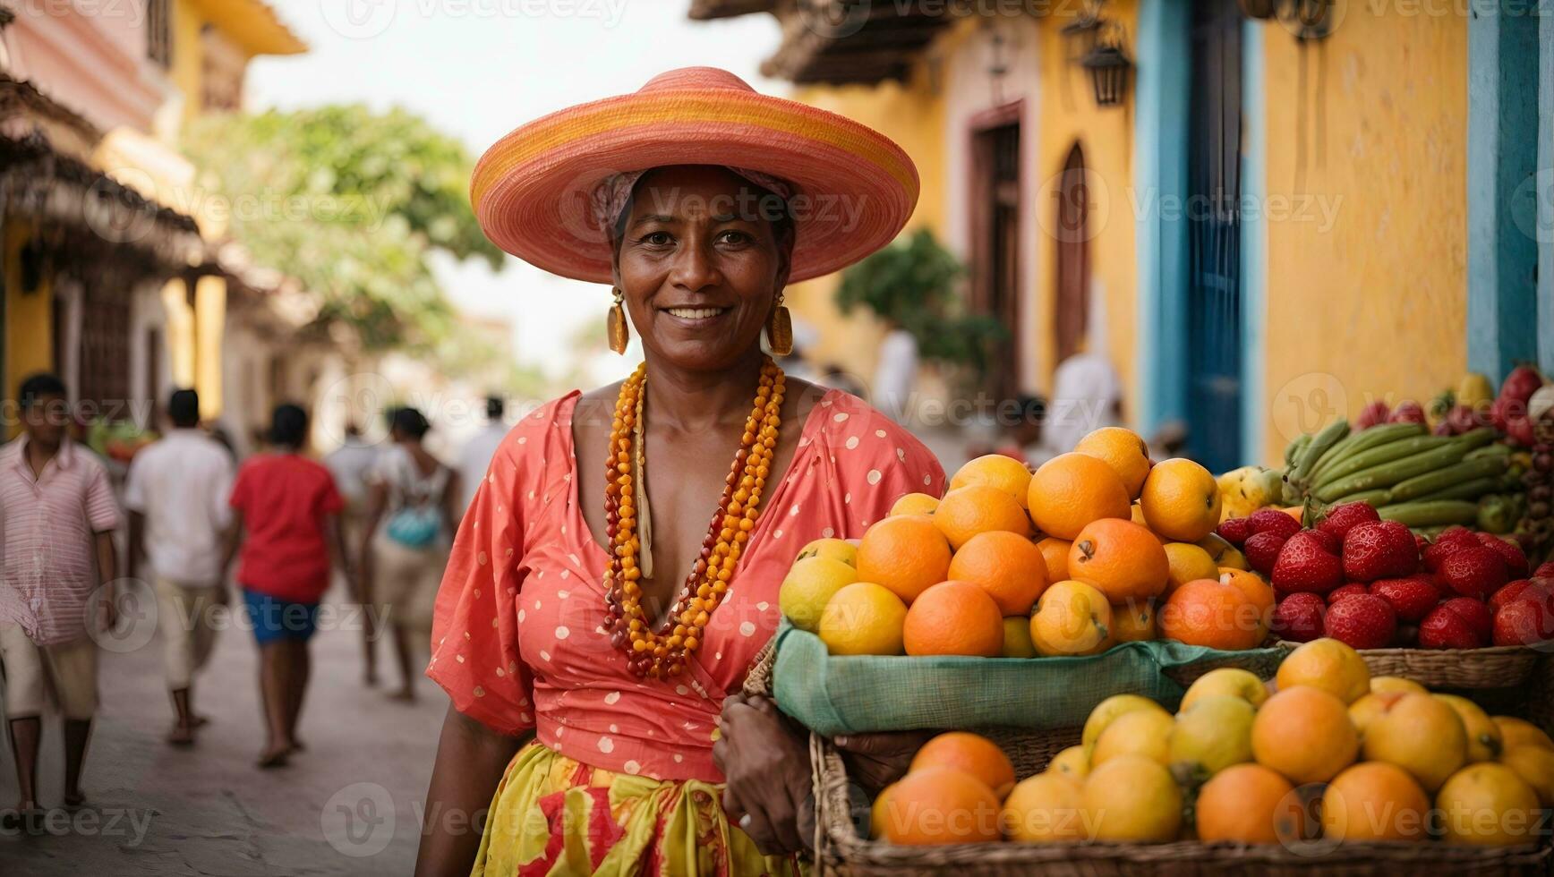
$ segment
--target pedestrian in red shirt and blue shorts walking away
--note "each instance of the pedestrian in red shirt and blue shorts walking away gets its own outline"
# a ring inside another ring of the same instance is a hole
[[[340,532],[345,501],[323,464],[303,456],[308,414],[277,405],[270,453],[250,458],[232,487],[232,523],[222,570],[241,546],[238,584],[260,646],[260,698],[266,744],[260,767],[281,767],[301,750],[297,720],[308,691],[308,641],[331,562],[351,577]],[[244,537],[244,532],[247,537]]]

